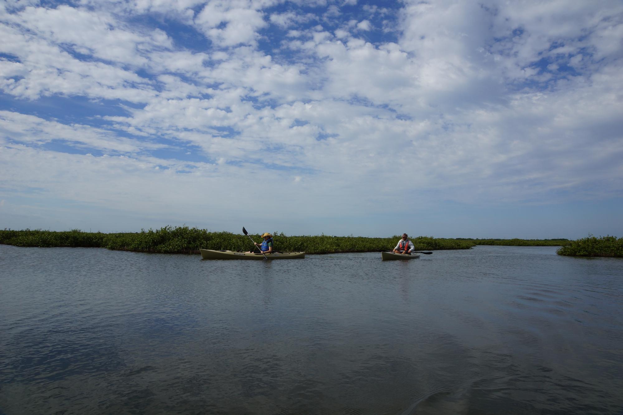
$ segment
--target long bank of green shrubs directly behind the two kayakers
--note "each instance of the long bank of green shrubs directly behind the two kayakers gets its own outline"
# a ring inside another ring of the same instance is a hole
[[[366,238],[355,236],[286,236],[273,232],[275,248],[282,252],[305,251],[308,254],[331,254],[336,252],[379,252],[396,246],[399,236]],[[255,242],[262,238],[251,235]],[[455,239],[420,236],[411,239],[416,250],[470,249],[474,244]],[[161,252],[166,254],[198,254],[199,249],[250,250],[249,238],[230,232],[209,232],[188,226],[165,226],[156,231],[103,234],[81,232],[78,229],[53,232],[26,229],[24,231],[0,231],[0,244],[31,247],[103,247],[113,250],[136,252]]]

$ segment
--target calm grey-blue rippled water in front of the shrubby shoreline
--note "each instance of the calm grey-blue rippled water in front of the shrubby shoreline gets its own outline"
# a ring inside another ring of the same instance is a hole
[[[622,414],[623,260],[0,245],[3,414]]]

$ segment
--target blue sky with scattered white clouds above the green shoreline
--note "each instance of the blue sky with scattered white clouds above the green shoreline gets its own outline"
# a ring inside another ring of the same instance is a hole
[[[623,236],[623,2],[0,0],[0,229]]]

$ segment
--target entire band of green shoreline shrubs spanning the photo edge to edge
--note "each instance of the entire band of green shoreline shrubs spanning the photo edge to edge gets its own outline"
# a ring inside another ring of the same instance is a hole
[[[307,254],[335,254],[341,252],[380,252],[391,250],[399,236],[385,238],[358,236],[287,236],[274,232],[276,248],[282,252],[305,251]],[[255,242],[259,234],[252,234]],[[411,238],[416,250],[470,249],[477,245],[498,246],[561,246],[559,255],[573,256],[623,256],[623,239],[616,237],[588,237],[568,239],[471,239],[434,238],[419,236]],[[165,226],[141,232],[82,232],[44,231],[24,229],[0,230],[0,244],[22,247],[100,247],[111,250],[155,252],[161,254],[199,254],[199,249],[227,249],[245,251],[252,248],[249,238],[231,232],[210,232],[188,226]]]

